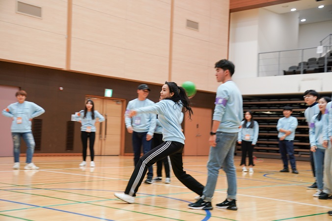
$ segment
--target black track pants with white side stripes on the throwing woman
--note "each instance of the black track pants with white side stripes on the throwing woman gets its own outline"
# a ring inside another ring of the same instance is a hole
[[[138,164],[135,166],[134,172],[130,177],[125,193],[131,196],[136,196],[138,188],[144,179],[144,175],[146,174],[147,168],[152,166],[157,161],[169,156],[170,163],[176,178],[178,178],[179,181],[190,190],[194,191],[198,195],[202,195],[204,186],[183,170],[183,146],[184,145],[179,142],[165,141],[161,145],[144,154],[139,159]]]

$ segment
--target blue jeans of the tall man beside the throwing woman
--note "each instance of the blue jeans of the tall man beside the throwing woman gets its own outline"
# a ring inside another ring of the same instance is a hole
[[[216,189],[221,166],[227,177],[227,198],[236,199],[237,190],[234,151],[238,133],[221,133],[216,136],[217,145],[210,147],[209,161],[207,164],[208,178],[202,195],[202,199],[210,202]]]

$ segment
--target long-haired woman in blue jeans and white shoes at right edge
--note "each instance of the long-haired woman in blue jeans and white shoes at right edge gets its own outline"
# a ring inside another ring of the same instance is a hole
[[[327,146],[323,146],[323,123],[326,120],[326,105],[331,101],[329,97],[322,97],[318,100],[319,113],[315,114],[309,124],[310,150],[313,152],[313,159],[317,177],[317,192],[313,194],[319,197],[323,191],[323,169],[324,156]]]

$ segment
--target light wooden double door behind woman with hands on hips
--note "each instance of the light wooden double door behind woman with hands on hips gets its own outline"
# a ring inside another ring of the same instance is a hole
[[[95,155],[122,155],[124,149],[124,130],[122,99],[106,99],[86,96],[93,100],[94,110],[105,117],[96,123]]]

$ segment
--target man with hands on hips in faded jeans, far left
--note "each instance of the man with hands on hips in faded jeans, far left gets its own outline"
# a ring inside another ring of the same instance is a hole
[[[35,142],[31,131],[32,118],[37,117],[44,113],[44,109],[38,105],[26,101],[27,92],[19,90],[15,94],[17,101],[14,104],[9,105],[2,111],[2,114],[12,118],[11,133],[14,144],[14,166],[13,169],[20,168],[20,149],[21,138],[27,144],[27,165],[25,169],[39,169],[32,163],[32,155],[34,152]]]

